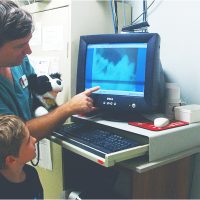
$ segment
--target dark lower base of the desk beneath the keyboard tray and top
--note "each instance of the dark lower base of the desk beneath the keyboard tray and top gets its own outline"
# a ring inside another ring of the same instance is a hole
[[[66,150],[64,155],[67,193],[80,191],[87,199],[189,198],[192,156],[138,173],[122,165],[105,168]]]

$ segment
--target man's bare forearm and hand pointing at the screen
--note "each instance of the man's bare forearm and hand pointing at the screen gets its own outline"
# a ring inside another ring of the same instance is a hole
[[[26,122],[26,125],[37,140],[40,140],[50,134],[57,126],[73,114],[87,113],[95,110],[93,100],[89,97],[99,87],[90,88],[76,96],[67,103],[59,106],[47,115],[34,118]]]

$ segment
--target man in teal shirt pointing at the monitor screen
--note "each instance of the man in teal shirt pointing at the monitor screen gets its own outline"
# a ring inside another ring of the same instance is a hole
[[[74,96],[49,114],[32,119],[27,76],[34,73],[27,54],[34,30],[32,17],[10,0],[0,0],[0,113],[26,120],[32,136],[45,137],[73,114],[95,109],[90,94],[99,87]]]

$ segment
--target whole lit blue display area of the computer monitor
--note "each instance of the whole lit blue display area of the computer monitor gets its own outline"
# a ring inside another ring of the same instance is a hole
[[[144,92],[145,56],[146,48],[141,44],[90,45],[86,87],[98,85],[101,90]]]

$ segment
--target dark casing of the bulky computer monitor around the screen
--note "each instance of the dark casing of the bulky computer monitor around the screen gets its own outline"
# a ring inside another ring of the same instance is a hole
[[[77,88],[80,93],[85,90],[85,66],[87,46],[101,43],[147,43],[145,90],[144,97],[119,96],[108,94],[93,94],[95,106],[102,111],[120,112],[131,114],[132,112],[151,113],[159,112],[164,97],[164,74],[160,62],[160,36],[157,33],[126,33],[126,34],[102,34],[86,35],[80,37]],[[103,102],[107,104],[103,104]],[[113,101],[117,102],[113,106]]]

